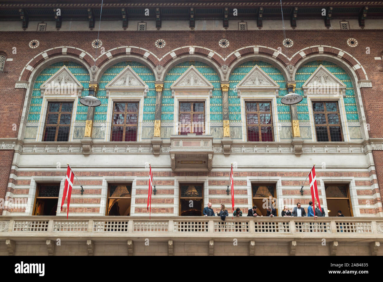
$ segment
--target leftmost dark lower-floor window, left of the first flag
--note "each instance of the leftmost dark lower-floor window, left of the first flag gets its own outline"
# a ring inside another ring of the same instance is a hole
[[[56,215],[60,184],[38,185],[33,215]]]

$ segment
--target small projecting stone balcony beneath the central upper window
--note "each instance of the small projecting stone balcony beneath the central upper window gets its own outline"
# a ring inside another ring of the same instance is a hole
[[[170,136],[170,160],[172,170],[211,170],[213,164],[213,136],[172,135]]]

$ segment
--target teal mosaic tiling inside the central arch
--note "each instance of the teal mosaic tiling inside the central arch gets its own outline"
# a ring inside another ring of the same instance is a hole
[[[222,121],[222,90],[221,80],[214,69],[199,61],[186,61],[172,67],[164,78],[164,90],[162,90],[161,121],[173,121],[174,98],[170,86],[180,77],[190,66],[194,66],[207,80],[213,85],[213,98],[210,98],[210,120]],[[206,105],[207,106],[207,105]]]

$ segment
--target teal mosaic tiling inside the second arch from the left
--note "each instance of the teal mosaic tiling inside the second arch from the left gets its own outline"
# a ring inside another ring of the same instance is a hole
[[[144,98],[144,115],[143,121],[154,121],[154,112],[155,112],[155,99],[157,96],[157,92],[155,91],[155,77],[151,69],[149,67],[135,61],[124,61],[118,62],[113,66],[109,67],[103,75],[101,75],[100,81],[98,82],[98,97],[106,97],[105,85],[108,84],[113,78],[116,77],[126,66],[130,66],[134,72],[149,86],[149,90],[147,92],[147,96],[150,98]],[[101,100],[101,99],[100,99]],[[104,101],[101,100],[101,106],[107,105],[108,101],[105,98]],[[101,107],[100,106],[100,107]],[[97,107],[99,108],[99,107]],[[100,110],[101,113],[101,110]],[[103,115],[98,115],[100,120],[98,121],[106,121],[106,110],[103,112]],[[104,118],[104,120],[102,120]],[[96,120],[96,116],[95,116]]]

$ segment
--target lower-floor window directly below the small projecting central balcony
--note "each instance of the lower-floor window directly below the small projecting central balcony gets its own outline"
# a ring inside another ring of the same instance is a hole
[[[200,216],[203,210],[203,184],[180,184],[180,215]]]

